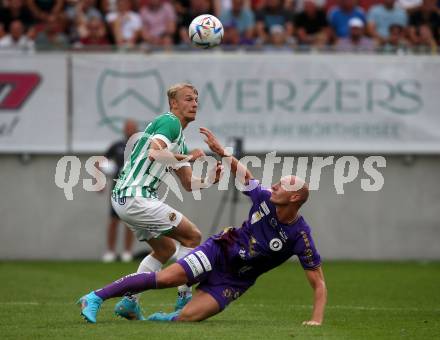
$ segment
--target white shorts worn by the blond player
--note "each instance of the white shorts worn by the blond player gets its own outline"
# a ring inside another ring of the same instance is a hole
[[[139,241],[167,234],[177,227],[183,215],[157,198],[112,198],[113,209],[128,224]]]

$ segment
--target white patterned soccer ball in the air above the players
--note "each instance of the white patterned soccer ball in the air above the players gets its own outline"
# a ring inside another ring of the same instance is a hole
[[[202,14],[196,17],[188,29],[191,43],[199,48],[213,48],[223,39],[223,25],[215,16]]]

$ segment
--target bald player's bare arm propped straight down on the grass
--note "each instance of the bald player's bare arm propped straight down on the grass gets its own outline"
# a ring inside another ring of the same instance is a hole
[[[321,267],[315,270],[306,270],[305,272],[307,280],[314,291],[314,303],[312,318],[304,321],[303,325],[320,326],[324,320],[324,309],[327,303],[327,288],[325,286],[324,273]]]

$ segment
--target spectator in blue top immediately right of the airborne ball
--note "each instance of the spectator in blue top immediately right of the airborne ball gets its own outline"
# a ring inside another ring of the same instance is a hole
[[[232,0],[232,7],[225,10],[220,21],[223,26],[233,27],[237,32],[240,44],[252,44],[255,30],[255,16],[250,8],[245,6],[244,0]],[[225,37],[227,32],[225,31]]]

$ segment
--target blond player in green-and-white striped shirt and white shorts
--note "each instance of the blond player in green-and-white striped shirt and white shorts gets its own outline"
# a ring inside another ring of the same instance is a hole
[[[167,182],[172,170],[187,191],[206,186],[207,179],[194,178],[189,161],[203,157],[202,150],[188,152],[182,131],[195,120],[197,90],[190,84],[177,84],[167,92],[170,112],[154,119],[136,142],[125,163],[112,194],[112,206],[121,220],[129,225],[140,241],[146,241],[153,252],[139,265],[138,273],[156,272],[175,253],[180,259],[201,241],[199,229],[166,203],[158,199],[157,190]],[[170,160],[174,161],[170,165]],[[178,161],[178,162],[177,162]],[[215,169],[211,182],[219,179],[221,167]],[[176,243],[180,243],[177,247]],[[178,288],[176,309],[191,299],[191,290]],[[115,313],[130,320],[143,320],[139,296],[123,298]]]

